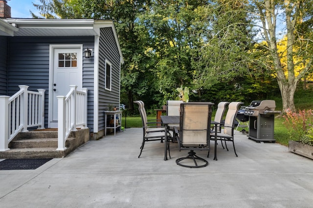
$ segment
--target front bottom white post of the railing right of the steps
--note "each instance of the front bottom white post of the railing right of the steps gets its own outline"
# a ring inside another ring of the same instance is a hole
[[[57,96],[58,99],[58,148],[65,150],[66,118],[65,118],[65,96]]]

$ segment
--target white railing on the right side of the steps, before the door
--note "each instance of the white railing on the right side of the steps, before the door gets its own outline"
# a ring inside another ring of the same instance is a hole
[[[66,96],[58,98],[58,148],[65,150],[65,142],[71,131],[77,126],[87,128],[87,88],[77,91],[77,86],[70,85]]]

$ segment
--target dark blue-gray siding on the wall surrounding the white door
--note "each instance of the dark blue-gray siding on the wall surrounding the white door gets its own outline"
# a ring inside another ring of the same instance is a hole
[[[48,117],[49,45],[83,44],[94,48],[94,37],[9,37],[8,94],[25,84],[29,90],[45,89],[45,127]],[[90,76],[91,75],[91,76]],[[93,128],[93,62],[83,59],[83,87],[88,88],[88,126]]]

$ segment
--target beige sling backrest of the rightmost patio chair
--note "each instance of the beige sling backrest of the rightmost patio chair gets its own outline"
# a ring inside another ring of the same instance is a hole
[[[236,120],[236,116],[237,116],[237,112],[239,110],[239,106],[241,104],[241,102],[231,102],[228,105],[228,110],[226,113],[226,118],[225,118],[225,123],[224,123],[224,133],[228,134],[230,136],[233,136],[234,134],[234,124],[235,124],[235,120]],[[232,126],[232,127],[231,127]]]

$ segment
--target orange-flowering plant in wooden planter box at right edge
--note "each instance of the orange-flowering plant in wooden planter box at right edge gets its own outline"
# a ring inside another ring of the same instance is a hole
[[[289,151],[313,159],[313,110],[287,110],[284,118],[291,137]]]

